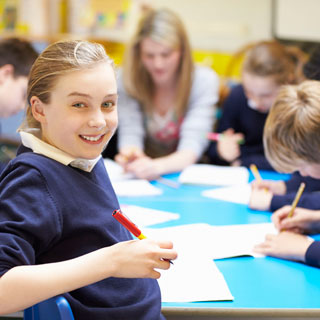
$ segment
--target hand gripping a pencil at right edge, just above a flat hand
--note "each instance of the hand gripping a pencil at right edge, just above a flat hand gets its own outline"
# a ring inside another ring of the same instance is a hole
[[[320,232],[320,211],[296,208],[292,217],[288,217],[291,206],[284,206],[274,212],[272,221],[278,230],[297,233]]]

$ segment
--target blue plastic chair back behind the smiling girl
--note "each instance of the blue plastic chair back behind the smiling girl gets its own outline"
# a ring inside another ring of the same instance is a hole
[[[67,299],[57,296],[24,310],[24,320],[74,320]]]

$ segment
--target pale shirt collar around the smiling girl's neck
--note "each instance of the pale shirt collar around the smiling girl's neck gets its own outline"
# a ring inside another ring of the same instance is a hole
[[[100,160],[101,155],[93,160],[74,158],[66,152],[44,142],[39,138],[40,129],[28,129],[20,131],[22,144],[30,148],[34,153],[42,154],[50,159],[56,160],[65,166],[81,169],[86,172],[91,172],[96,163]]]

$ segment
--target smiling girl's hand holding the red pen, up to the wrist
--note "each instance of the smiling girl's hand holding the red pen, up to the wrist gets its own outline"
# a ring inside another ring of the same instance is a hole
[[[170,241],[160,240],[131,240],[117,243],[110,247],[112,276],[117,278],[160,278],[160,272],[155,269],[167,270],[170,262],[174,260],[177,252],[173,250]]]

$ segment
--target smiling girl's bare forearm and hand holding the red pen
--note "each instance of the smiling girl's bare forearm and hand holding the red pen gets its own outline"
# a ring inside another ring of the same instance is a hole
[[[0,314],[23,310],[108,277],[158,279],[176,259],[169,241],[131,240],[57,263],[17,266],[0,278]]]

